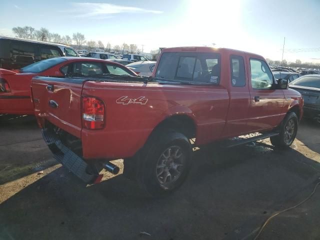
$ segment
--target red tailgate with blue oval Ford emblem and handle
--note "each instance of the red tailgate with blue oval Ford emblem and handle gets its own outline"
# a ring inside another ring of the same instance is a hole
[[[35,116],[80,138],[81,91],[85,80],[36,76],[32,78]]]

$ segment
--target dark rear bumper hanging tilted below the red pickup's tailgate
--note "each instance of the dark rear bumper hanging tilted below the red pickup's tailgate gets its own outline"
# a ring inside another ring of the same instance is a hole
[[[52,132],[52,130],[42,128],[42,136],[53,153],[54,158],[73,174],[86,183],[93,182],[97,178],[98,175],[92,175],[86,172],[88,164],[83,160],[83,158],[76,155],[72,150],[63,145],[61,140],[54,132]]]

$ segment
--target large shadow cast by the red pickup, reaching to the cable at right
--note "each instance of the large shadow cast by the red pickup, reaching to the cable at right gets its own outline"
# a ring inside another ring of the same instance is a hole
[[[84,186],[60,167],[0,204],[0,239],[242,239],[319,175],[297,150],[265,143],[202,147],[186,182],[157,198],[121,174]]]

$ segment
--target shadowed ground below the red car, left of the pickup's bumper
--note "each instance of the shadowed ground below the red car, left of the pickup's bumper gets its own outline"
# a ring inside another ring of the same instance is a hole
[[[56,163],[34,116],[0,115],[0,185]]]

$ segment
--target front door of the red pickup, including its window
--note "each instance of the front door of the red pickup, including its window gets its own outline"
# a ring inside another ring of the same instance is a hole
[[[279,124],[284,94],[272,89],[271,70],[263,59],[246,55],[250,91],[247,125],[250,131],[272,128]]]

